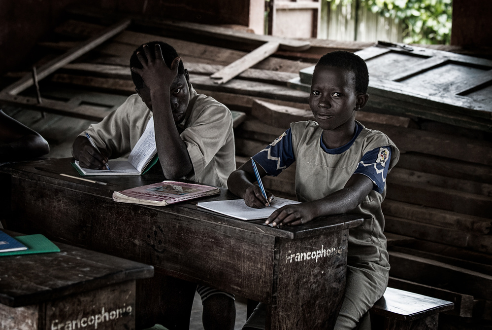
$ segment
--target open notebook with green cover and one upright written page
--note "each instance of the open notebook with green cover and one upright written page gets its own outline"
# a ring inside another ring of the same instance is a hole
[[[148,171],[158,160],[154,118],[150,118],[143,135],[138,139],[135,147],[126,160],[110,160],[111,170],[93,170],[83,168],[76,160],[72,165],[80,175],[140,175]]]

